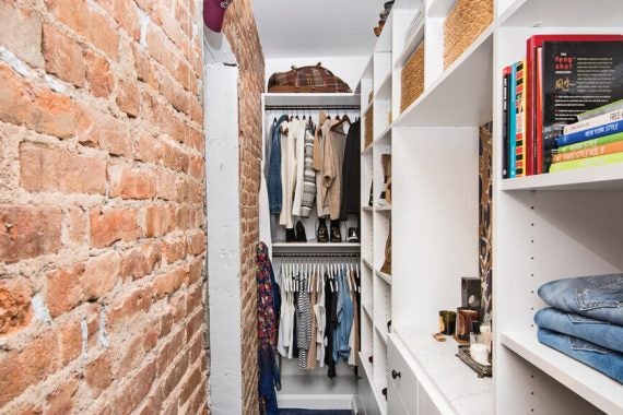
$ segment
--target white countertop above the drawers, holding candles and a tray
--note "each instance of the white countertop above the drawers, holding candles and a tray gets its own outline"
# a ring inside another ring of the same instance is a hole
[[[493,414],[493,379],[479,379],[455,356],[458,343],[451,337],[435,341],[431,333],[436,331],[437,328],[396,328],[391,335],[409,351],[413,360],[410,366],[428,395],[439,396],[434,398],[437,406],[449,404],[457,414]]]

